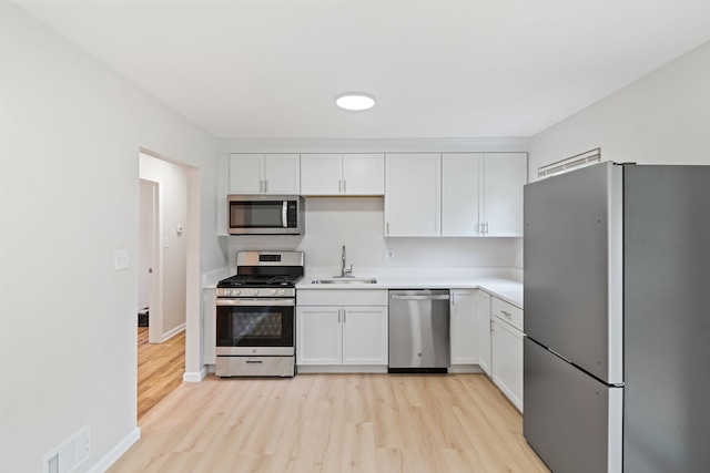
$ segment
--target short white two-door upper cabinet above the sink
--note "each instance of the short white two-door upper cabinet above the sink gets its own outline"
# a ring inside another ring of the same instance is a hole
[[[302,154],[301,194],[383,195],[383,154]]]

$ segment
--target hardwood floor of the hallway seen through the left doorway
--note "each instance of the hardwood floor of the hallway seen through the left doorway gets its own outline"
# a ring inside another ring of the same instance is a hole
[[[182,383],[185,331],[163,343],[148,342],[148,327],[138,329],[138,420]]]

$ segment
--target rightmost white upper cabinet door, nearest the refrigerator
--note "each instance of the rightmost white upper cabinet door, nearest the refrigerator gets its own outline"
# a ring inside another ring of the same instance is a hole
[[[484,215],[486,235],[523,236],[523,186],[527,183],[527,154],[486,154]]]

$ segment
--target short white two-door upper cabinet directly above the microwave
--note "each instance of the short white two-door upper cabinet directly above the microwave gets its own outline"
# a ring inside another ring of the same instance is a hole
[[[230,194],[301,194],[300,155],[230,155]]]

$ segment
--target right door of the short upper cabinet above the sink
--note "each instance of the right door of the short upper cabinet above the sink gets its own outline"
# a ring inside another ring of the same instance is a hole
[[[385,194],[385,155],[344,154],[343,194]]]

